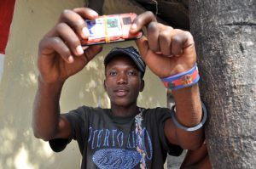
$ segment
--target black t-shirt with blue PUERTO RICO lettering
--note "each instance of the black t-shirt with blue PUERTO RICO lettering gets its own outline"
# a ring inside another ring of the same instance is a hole
[[[50,147],[58,152],[72,139],[83,155],[81,168],[163,168],[166,155],[180,155],[179,146],[164,134],[169,109],[147,109],[130,117],[113,116],[109,109],[82,106],[64,114],[72,127],[69,139],[53,139]],[[141,115],[141,116],[140,116]]]

